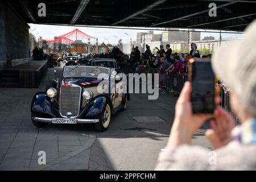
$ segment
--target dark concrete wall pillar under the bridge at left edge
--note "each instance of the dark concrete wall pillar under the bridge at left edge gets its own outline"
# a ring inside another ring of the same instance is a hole
[[[30,27],[6,2],[0,1],[0,71],[15,61],[30,57]]]

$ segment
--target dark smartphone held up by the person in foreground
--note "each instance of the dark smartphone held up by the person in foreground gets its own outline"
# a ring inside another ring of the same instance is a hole
[[[210,59],[189,60],[189,75],[193,114],[212,114],[215,109],[215,76]]]

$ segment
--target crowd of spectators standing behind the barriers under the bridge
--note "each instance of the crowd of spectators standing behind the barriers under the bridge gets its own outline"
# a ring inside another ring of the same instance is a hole
[[[67,56],[80,55],[83,63],[86,63],[89,59],[93,58],[112,58],[117,61],[119,69],[123,69],[126,73],[143,73],[144,68],[152,68],[155,71],[164,74],[166,72],[171,73],[181,73],[183,75],[188,74],[189,59],[193,57],[197,58],[211,58],[211,54],[200,56],[199,51],[197,50],[196,44],[191,44],[191,51],[189,53],[183,52],[172,52],[170,44],[166,45],[164,49],[163,45],[160,45],[160,48],[156,55],[151,52],[150,46],[146,44],[146,51],[139,51],[138,47],[133,49],[133,52],[130,55],[123,53],[118,47],[114,47],[111,51],[107,53],[90,53],[90,54],[81,54],[81,53],[43,53],[42,48],[36,47],[33,50],[33,55],[35,60],[48,60],[49,67],[60,66],[60,61],[65,60]]]

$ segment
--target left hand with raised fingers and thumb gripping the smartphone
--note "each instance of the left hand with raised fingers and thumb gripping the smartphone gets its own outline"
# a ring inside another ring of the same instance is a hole
[[[203,125],[213,114],[192,114],[191,98],[192,86],[185,82],[175,106],[175,119],[172,125],[167,148],[175,148],[180,144],[191,144],[193,133]]]

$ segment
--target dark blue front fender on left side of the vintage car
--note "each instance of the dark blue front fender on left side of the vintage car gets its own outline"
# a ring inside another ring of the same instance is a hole
[[[46,96],[46,92],[38,92],[31,102],[31,113],[43,113],[52,117],[60,117],[57,109],[51,104],[51,101]]]

